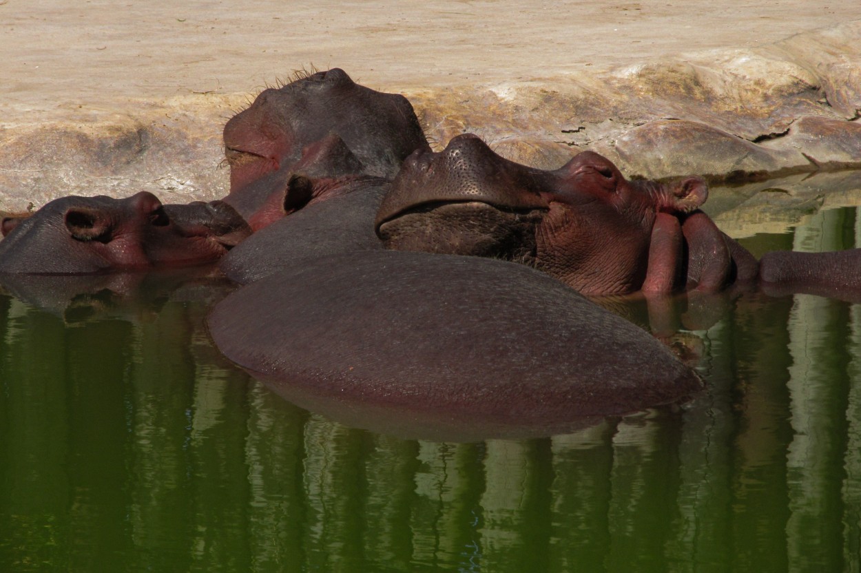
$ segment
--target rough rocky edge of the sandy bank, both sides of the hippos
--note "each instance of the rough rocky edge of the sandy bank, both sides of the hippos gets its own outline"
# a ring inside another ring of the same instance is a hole
[[[381,89],[406,95],[437,145],[474,132],[542,169],[587,149],[629,177],[652,179],[751,182],[861,169],[861,21],[606,71]],[[247,99],[193,94],[65,117],[20,114],[0,124],[0,211],[66,194],[219,198],[227,189],[221,128]]]

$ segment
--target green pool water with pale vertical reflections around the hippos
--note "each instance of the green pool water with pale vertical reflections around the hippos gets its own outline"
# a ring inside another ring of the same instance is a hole
[[[695,333],[684,409],[457,444],[288,404],[220,359],[198,294],[0,295],[0,571],[861,570],[858,305],[740,299]]]

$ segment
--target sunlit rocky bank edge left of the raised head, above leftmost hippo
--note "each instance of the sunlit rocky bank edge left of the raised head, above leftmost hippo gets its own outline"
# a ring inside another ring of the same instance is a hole
[[[0,130],[0,211],[21,212],[58,197],[150,191],[164,203],[223,197],[224,104],[140,108],[97,122],[65,121]]]

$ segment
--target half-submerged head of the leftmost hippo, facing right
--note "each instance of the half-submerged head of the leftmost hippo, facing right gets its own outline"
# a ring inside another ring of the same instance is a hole
[[[213,262],[251,234],[222,201],[162,205],[146,191],[126,199],[53,200],[5,219],[0,273],[95,274]]]

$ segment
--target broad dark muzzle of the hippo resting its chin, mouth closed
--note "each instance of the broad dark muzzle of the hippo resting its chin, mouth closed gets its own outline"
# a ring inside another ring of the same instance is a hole
[[[465,134],[444,151],[414,151],[375,220],[388,249],[530,261],[548,209],[536,172]]]

